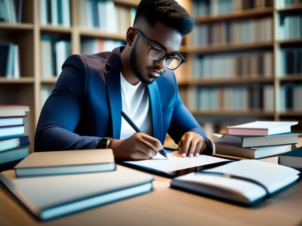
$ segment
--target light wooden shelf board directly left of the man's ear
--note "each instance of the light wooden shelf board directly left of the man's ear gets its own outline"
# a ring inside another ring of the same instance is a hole
[[[79,34],[86,38],[126,41],[126,34],[107,33],[97,29],[79,29]]]

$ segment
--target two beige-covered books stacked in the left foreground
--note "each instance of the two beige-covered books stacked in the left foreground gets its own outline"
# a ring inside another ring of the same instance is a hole
[[[111,149],[34,152],[0,181],[48,221],[153,190],[152,175],[118,166]]]

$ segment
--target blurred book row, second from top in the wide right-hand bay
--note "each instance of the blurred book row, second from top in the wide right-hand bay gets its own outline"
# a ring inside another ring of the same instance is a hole
[[[192,31],[192,46],[269,42],[273,40],[273,18],[228,20],[196,25]]]

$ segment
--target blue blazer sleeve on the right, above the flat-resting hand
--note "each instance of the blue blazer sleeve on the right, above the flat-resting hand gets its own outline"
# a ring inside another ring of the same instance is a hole
[[[168,129],[169,136],[177,144],[185,133],[195,132],[201,135],[202,137],[204,137],[204,140],[206,142],[206,149],[202,152],[202,154],[212,154],[213,153],[212,142],[207,138],[204,129],[198,124],[194,116],[191,114],[191,112],[182,102],[178,93],[178,84],[175,75],[174,75],[174,80],[176,84],[176,99],[174,102],[174,109],[172,113],[170,126]]]

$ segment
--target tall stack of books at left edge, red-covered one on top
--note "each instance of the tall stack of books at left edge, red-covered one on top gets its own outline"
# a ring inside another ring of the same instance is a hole
[[[25,158],[29,137],[24,136],[28,106],[0,105],[0,166]]]

